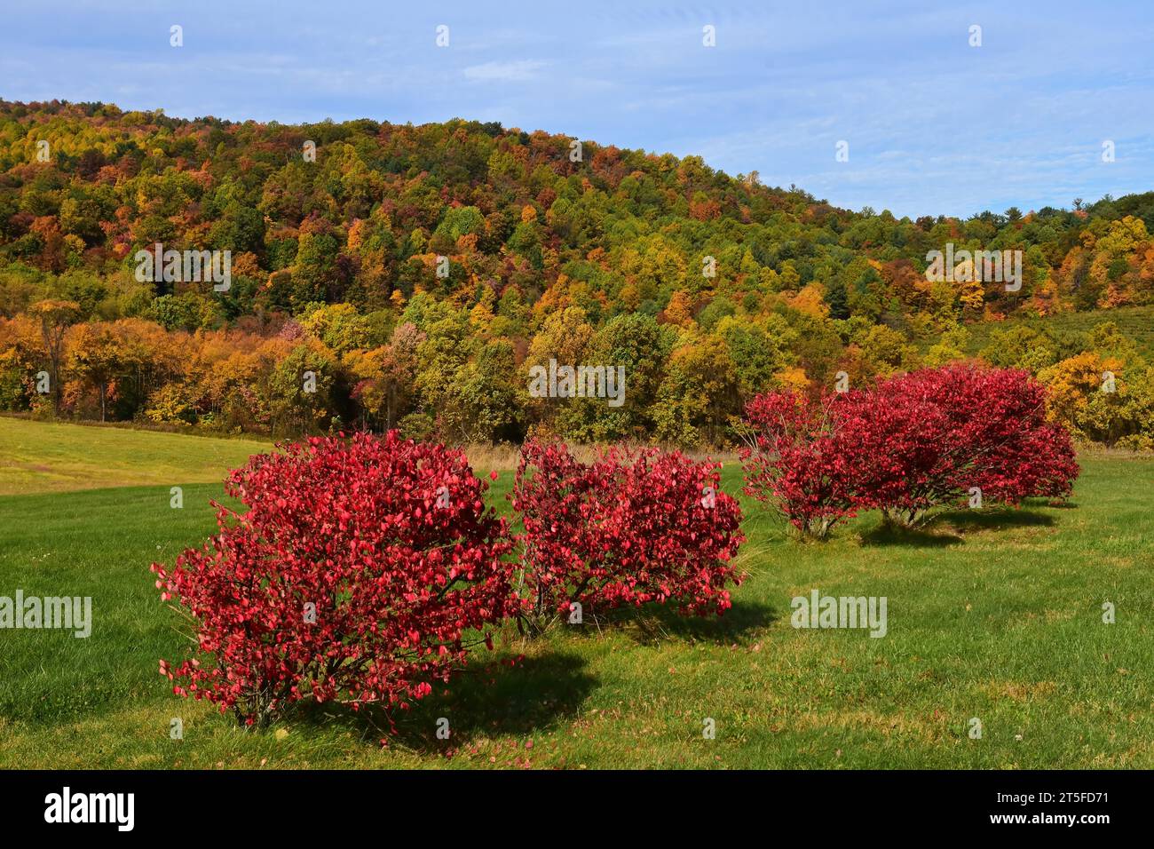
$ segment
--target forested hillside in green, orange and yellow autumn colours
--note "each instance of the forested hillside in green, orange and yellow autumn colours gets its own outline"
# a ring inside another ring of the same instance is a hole
[[[1152,447],[1123,320],[1154,305],[1152,230],[1154,192],[911,221],[497,124],[0,102],[0,409],[710,446],[756,392],[976,355],[1036,374],[1077,437]],[[227,251],[227,286],[141,280],[158,244]],[[1020,289],[931,282],[947,245],[1020,251]],[[534,397],[550,359],[623,367],[623,403]]]

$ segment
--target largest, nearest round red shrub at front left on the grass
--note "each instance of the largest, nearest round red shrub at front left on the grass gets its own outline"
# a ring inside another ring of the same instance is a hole
[[[160,662],[174,692],[248,724],[302,699],[407,707],[465,661],[466,632],[519,610],[505,523],[463,453],[396,432],[282,449],[228,477],[247,513],[216,505],[203,550],[152,565],[200,649]]]

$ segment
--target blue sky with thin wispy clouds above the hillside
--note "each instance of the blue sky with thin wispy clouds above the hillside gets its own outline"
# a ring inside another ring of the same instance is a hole
[[[283,122],[496,120],[699,154],[909,216],[1154,189],[1149,0],[35,0],[6,3],[0,22],[6,99]],[[183,47],[170,46],[172,24]]]

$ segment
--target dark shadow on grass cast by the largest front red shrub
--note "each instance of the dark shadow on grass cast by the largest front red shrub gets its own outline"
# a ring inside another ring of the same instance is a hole
[[[434,754],[477,736],[525,736],[576,716],[598,684],[584,670],[583,658],[565,653],[470,664],[449,684],[434,684],[411,710],[395,710],[395,732],[380,708],[308,706],[294,718],[315,727],[342,723],[366,744],[388,739],[390,746]],[[436,737],[441,717],[449,720],[451,743]]]

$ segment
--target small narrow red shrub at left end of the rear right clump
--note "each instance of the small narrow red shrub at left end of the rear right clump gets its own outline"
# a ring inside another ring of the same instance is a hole
[[[854,515],[852,476],[834,417],[838,397],[774,392],[745,405],[752,430],[741,452],[745,494],[771,502],[797,530],[818,538]]]

